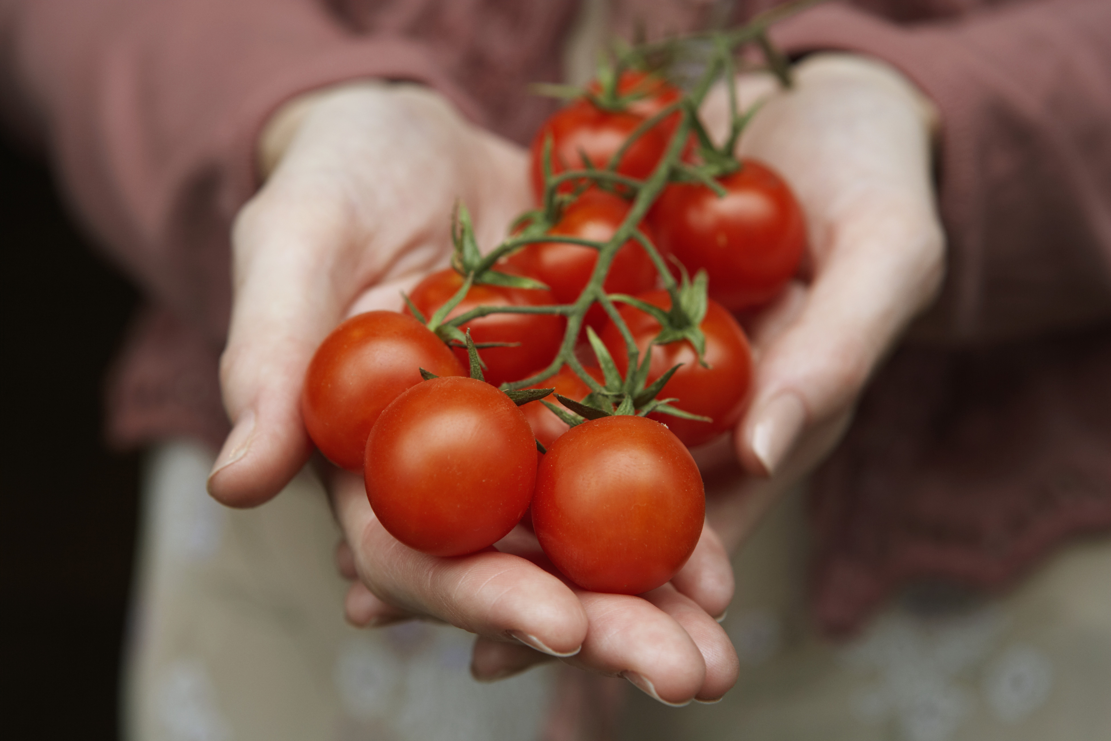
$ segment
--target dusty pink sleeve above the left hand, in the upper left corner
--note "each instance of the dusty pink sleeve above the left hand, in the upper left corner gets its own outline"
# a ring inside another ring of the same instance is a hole
[[[24,119],[79,216],[148,294],[213,342],[228,230],[257,187],[254,141],[288,98],[407,79],[481,108],[400,33],[357,33],[323,0],[27,0],[2,37]]]

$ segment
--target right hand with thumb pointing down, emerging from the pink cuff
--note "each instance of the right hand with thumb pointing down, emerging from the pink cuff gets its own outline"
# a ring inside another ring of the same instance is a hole
[[[865,383],[935,298],[944,236],[931,180],[932,106],[899,72],[853,55],[815,55],[777,92],[770,76],[738,80],[765,99],[739,155],[774,167],[807,215],[802,278],[751,317],[752,402],[735,452],[758,476],[712,521],[730,546],[777,493],[837,444]],[[707,100],[724,131],[724,89]],[[772,475],[771,481],[759,478]]]

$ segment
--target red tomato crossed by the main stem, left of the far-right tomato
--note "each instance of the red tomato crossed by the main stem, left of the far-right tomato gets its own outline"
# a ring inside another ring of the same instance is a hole
[[[553,235],[607,241],[629,214],[629,202],[620,196],[591,188],[563,209],[559,221],[549,230]],[[642,226],[649,239],[651,231]],[[522,275],[540,280],[552,290],[560,304],[571,304],[590,280],[598,264],[598,250],[581,245],[542,241],[528,245],[509,257],[507,264]],[[655,285],[655,266],[635,239],[621,246],[610,264],[603,287],[608,294],[639,294]],[[593,306],[587,313],[587,324],[600,328],[605,312]]]

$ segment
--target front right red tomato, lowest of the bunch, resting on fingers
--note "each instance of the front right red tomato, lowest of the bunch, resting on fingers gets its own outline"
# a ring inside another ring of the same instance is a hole
[[[664,584],[694,551],[704,515],[691,454],[644,417],[573,427],[537,473],[532,524],[540,545],[594,592],[641,594]]]

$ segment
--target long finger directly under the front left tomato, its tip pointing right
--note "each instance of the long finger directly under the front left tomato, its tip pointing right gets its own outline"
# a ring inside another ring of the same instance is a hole
[[[414,551],[379,523],[361,477],[340,473],[333,491],[359,574],[379,599],[551,655],[579,651],[587,635],[587,615],[574,593],[556,576],[524,559],[493,550],[453,559]]]

